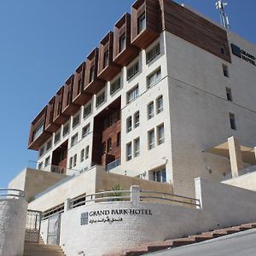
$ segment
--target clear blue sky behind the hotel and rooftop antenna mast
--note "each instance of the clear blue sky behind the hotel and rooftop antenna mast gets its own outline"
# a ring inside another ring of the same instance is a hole
[[[232,30],[256,44],[256,1],[227,1]],[[133,2],[0,1],[0,188],[36,160],[26,149],[32,119]],[[176,2],[219,21],[215,0]]]

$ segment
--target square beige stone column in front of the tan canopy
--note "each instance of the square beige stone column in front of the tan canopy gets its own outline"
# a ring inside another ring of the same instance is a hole
[[[236,137],[230,137],[228,143],[232,177],[237,177],[239,176],[239,171],[244,168],[241,158],[241,146]]]

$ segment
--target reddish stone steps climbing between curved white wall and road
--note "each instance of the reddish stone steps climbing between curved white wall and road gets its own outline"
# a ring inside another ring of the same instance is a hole
[[[230,235],[233,233],[241,232],[244,230],[250,230],[254,228],[256,228],[256,223],[241,224],[235,227],[212,230],[209,232],[201,233],[199,235],[187,236],[184,238],[149,242],[139,247],[129,248],[120,253],[107,253],[107,254],[104,254],[103,256],[139,256],[146,253],[153,253],[156,251],[164,250],[167,248],[181,247],[181,246],[189,245],[195,242],[207,241],[219,236],[226,236],[226,235]]]

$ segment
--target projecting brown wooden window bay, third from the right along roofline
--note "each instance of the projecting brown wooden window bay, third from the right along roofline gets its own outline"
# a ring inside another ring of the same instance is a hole
[[[98,77],[110,81],[120,71],[121,66],[113,61],[113,32],[108,32],[100,44]]]

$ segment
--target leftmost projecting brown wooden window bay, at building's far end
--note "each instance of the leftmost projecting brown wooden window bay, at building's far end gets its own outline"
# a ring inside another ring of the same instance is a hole
[[[46,112],[47,106],[45,106],[38,116],[32,121],[28,139],[29,149],[38,150],[40,146],[51,136],[51,133],[45,131]]]

